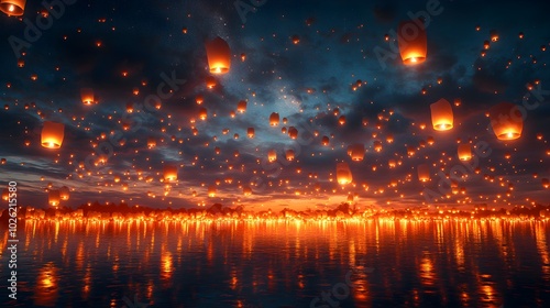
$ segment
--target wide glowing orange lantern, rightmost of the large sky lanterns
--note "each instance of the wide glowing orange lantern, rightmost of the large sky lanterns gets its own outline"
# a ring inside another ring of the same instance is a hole
[[[490,110],[491,125],[498,140],[516,140],[521,136],[524,119],[514,103],[502,102]]]

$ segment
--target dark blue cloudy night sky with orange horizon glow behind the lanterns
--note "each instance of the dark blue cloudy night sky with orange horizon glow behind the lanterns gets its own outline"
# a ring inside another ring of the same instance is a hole
[[[0,179],[18,182],[20,205],[47,207],[47,189],[63,186],[72,191],[61,205],[73,207],[315,209],[350,194],[360,206],[387,208],[550,200],[547,1],[74,2],[47,14],[28,1],[21,18],[0,14]],[[425,20],[427,59],[404,65],[399,22],[421,16],[427,3],[437,8]],[[40,34],[29,30],[37,21]],[[216,36],[231,48],[223,75],[208,69],[205,43]],[[82,103],[82,88],[97,103]],[[449,131],[431,124],[430,105],[442,98],[454,114]],[[244,113],[235,112],[241,100]],[[497,140],[491,128],[487,112],[501,102],[520,107],[517,140]],[[65,124],[59,150],[41,145],[44,121]],[[296,140],[282,132],[290,127]],[[348,155],[355,143],[365,146],[361,162]],[[464,143],[473,167],[458,158]],[[276,162],[267,162],[270,150]],[[339,162],[352,184],[338,184]],[[417,175],[422,164],[427,183]],[[178,166],[177,182],[164,182],[165,165]]]

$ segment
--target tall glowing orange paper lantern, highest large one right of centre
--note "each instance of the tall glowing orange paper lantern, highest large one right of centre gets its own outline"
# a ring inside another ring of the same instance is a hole
[[[403,64],[415,65],[426,61],[428,37],[424,22],[419,19],[399,24],[397,43]]]

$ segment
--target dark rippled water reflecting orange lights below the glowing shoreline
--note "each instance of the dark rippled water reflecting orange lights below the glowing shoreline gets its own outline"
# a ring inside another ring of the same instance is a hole
[[[0,307],[550,307],[543,222],[20,221],[19,229],[18,301],[4,301],[0,233]]]

